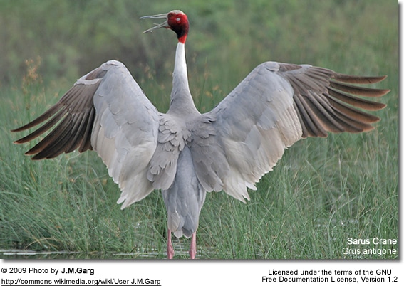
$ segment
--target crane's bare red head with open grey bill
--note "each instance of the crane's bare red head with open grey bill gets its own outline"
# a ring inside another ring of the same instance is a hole
[[[144,18],[165,18],[167,21],[154,26],[143,33],[152,32],[157,28],[170,28],[177,34],[178,41],[185,43],[187,41],[188,30],[190,29],[190,23],[188,22],[188,17],[184,12],[180,10],[173,10],[165,14],[158,14],[154,16],[143,16]]]

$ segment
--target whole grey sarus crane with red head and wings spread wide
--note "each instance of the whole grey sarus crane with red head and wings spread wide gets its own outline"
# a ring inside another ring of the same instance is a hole
[[[245,202],[247,188],[271,171],[284,149],[306,137],[328,132],[365,132],[379,120],[363,110],[380,110],[390,90],[352,84],[378,83],[385,76],[343,75],[311,65],[266,62],[213,110],[201,114],[192,100],[185,61],[187,15],[174,10],[144,16],[161,18],[146,32],[168,28],[177,34],[170,108],[157,111],[123,63],[110,60],[78,79],[56,105],[14,132],[43,125],[16,143],[48,132],[31,148],[31,159],[93,149],[121,190],[126,208],[160,189],[167,208],[167,258],[171,233],[191,238],[207,192],[225,191]],[[359,108],[359,109],[358,109]]]

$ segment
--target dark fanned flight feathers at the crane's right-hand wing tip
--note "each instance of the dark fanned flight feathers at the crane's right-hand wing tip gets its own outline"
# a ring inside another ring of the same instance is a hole
[[[390,89],[363,88],[361,85],[379,83],[385,75],[343,75],[309,65],[287,67],[281,73],[294,88],[302,137],[326,137],[328,132],[368,132],[374,129],[371,123],[380,120],[366,111],[381,110],[386,105],[362,97],[381,97]]]

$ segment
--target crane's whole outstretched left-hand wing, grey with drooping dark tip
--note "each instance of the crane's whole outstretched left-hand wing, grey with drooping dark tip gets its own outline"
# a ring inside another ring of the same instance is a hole
[[[157,145],[158,114],[125,65],[110,60],[78,79],[43,115],[13,131],[45,122],[16,141],[21,144],[54,127],[26,152],[32,159],[94,149],[119,184],[118,203],[125,208],[153,190],[146,174]]]

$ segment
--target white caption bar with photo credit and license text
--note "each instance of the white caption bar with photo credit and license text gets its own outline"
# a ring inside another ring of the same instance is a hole
[[[285,285],[403,282],[400,261],[2,260],[0,286]],[[402,266],[402,265],[401,265]]]

